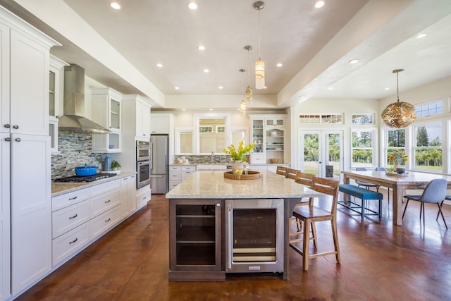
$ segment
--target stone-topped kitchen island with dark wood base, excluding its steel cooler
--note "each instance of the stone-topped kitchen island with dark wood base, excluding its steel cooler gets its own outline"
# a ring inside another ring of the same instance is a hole
[[[242,204],[248,200],[249,204],[255,204],[255,200],[257,203],[266,203],[269,199],[282,200],[283,233],[277,239],[278,244],[283,245],[285,259],[281,272],[283,278],[288,279],[289,219],[292,209],[302,197],[318,197],[319,193],[271,171],[259,172],[259,179],[232,180],[224,178],[224,171],[196,171],[166,194],[170,207],[169,281],[225,280],[228,219],[225,204],[233,199]],[[183,228],[183,225],[187,226]],[[183,233],[186,228],[196,231]],[[195,248],[192,250],[197,252],[194,256],[183,253],[187,247],[193,246]],[[204,256],[207,253],[209,255]]]

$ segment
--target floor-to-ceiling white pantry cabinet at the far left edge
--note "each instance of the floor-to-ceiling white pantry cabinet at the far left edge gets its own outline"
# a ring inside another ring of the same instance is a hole
[[[2,6],[0,41],[0,300],[5,300],[51,269],[49,49],[58,43]],[[7,245],[11,254],[4,252]]]

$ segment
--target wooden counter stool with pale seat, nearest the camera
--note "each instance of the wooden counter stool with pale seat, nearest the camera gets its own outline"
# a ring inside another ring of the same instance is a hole
[[[336,219],[339,188],[339,181],[314,177],[311,189],[323,194],[318,198],[318,202],[324,202],[325,206],[327,204],[328,209],[323,209],[324,206],[315,206],[314,198],[311,198],[309,200],[309,206],[299,206],[293,209],[293,215],[302,221],[302,223],[304,224],[304,229],[302,248],[299,248],[297,244],[293,243],[290,243],[290,247],[292,247],[293,250],[302,255],[302,269],[304,271],[307,271],[309,269],[309,259],[314,257],[335,254],[335,259],[337,260],[337,262],[341,262]],[[332,202],[330,202],[329,198],[325,197],[324,195],[332,196]],[[330,221],[334,250],[309,254],[310,240],[313,240],[314,248],[318,249],[315,223],[319,221]],[[311,236],[309,234],[310,228]]]

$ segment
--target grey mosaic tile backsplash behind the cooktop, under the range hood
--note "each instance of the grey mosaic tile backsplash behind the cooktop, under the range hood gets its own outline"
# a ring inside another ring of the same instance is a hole
[[[59,154],[51,155],[51,179],[75,176],[75,167],[84,164],[99,166],[106,154],[92,154],[91,133],[58,130]]]

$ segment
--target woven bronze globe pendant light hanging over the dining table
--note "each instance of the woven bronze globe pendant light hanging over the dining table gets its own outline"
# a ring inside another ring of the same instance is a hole
[[[383,122],[390,128],[406,128],[414,123],[416,118],[415,107],[407,102],[400,102],[400,90],[398,85],[398,73],[404,69],[395,69],[397,102],[389,104],[381,113]]]

